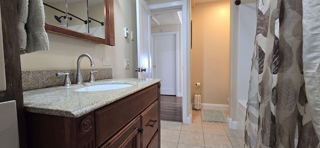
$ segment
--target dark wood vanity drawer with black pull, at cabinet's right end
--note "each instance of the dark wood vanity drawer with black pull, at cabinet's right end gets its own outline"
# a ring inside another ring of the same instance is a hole
[[[154,101],[141,114],[141,127],[143,129],[142,147],[146,147],[158,129],[158,101]]]

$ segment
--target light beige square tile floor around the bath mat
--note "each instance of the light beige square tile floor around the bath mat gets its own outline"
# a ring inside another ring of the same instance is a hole
[[[160,138],[163,148],[240,148],[244,145],[237,130],[229,129],[226,123],[202,121],[200,110],[192,110],[190,125],[161,120]]]

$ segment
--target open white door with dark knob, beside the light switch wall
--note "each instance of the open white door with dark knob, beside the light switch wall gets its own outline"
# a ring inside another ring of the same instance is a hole
[[[150,9],[144,0],[136,0],[138,78],[151,77]]]

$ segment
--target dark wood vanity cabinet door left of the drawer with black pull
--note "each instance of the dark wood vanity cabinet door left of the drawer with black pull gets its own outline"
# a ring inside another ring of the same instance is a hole
[[[136,116],[100,147],[140,147],[140,116]]]

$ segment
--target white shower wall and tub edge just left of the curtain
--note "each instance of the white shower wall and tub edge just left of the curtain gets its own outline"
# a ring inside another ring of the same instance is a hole
[[[239,5],[239,37],[238,37],[238,107],[237,107],[237,129],[244,133],[245,112],[248,99],[249,80],[251,71],[251,58],[254,48],[254,37],[256,30],[255,3]],[[242,104],[239,104],[242,103]],[[243,114],[244,113],[244,114]],[[243,135],[243,134],[241,134]]]

